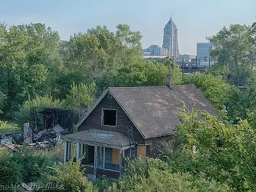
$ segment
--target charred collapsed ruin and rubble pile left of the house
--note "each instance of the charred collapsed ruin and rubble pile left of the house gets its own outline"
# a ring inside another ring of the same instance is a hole
[[[48,149],[61,143],[61,136],[72,132],[74,111],[60,108],[31,108],[31,124],[23,132],[0,134],[0,149],[19,150],[22,144]]]

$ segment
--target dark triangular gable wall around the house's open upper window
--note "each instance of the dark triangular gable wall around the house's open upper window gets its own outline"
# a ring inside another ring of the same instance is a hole
[[[116,126],[102,126],[102,109],[116,109]],[[100,101],[90,115],[84,122],[77,128],[77,132],[88,129],[100,129],[104,131],[115,131],[124,134],[129,138],[127,126],[133,127],[134,141],[144,144],[145,140],[140,132],[132,124],[129,117],[125,114],[124,110],[119,106],[118,102],[112,97],[108,99],[108,94]]]

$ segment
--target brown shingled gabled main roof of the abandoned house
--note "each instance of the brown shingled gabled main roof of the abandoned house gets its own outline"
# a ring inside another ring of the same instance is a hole
[[[167,86],[111,87],[100,96],[75,129],[108,92],[113,95],[145,139],[173,134],[175,127],[180,125],[176,113],[181,112],[182,106],[178,100],[184,101],[188,109],[191,109],[192,103],[195,102],[197,109],[218,115],[209,100],[194,85],[173,86],[172,90]]]

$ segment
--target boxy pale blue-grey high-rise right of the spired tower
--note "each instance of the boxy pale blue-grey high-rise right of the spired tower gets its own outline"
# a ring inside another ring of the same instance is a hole
[[[198,62],[208,62],[210,53],[212,51],[212,43],[197,43],[196,44],[196,55]]]

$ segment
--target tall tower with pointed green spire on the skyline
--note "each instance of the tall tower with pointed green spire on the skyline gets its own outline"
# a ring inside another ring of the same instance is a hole
[[[170,57],[179,57],[178,28],[172,17],[164,27],[163,47],[169,49]]]

